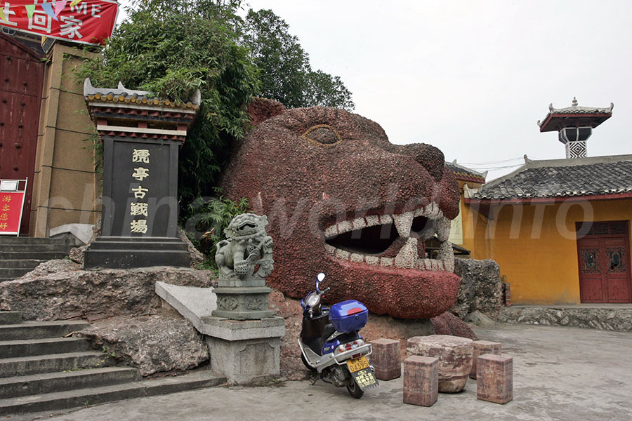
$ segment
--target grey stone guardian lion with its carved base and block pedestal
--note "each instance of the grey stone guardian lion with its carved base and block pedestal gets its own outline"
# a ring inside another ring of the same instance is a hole
[[[237,215],[225,229],[226,239],[217,244],[217,308],[204,317],[203,333],[211,369],[232,384],[279,375],[285,320],[268,309],[272,289],[265,286],[265,277],[274,262],[267,224],[265,215]]]

